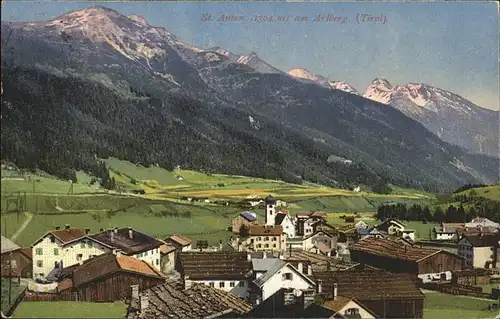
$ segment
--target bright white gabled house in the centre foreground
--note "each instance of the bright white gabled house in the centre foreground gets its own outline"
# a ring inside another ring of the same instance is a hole
[[[282,288],[300,293],[314,292],[316,283],[308,277],[308,272],[312,275],[310,267],[305,271],[302,263],[299,263],[298,267],[299,269],[279,258],[252,259],[250,302],[259,304]]]

